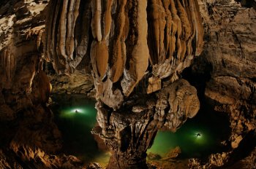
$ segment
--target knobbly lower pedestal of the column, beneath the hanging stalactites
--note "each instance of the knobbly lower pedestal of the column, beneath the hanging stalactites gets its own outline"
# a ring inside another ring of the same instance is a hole
[[[98,127],[92,133],[99,135],[110,148],[112,157],[108,168],[148,168],[146,151],[151,147],[161,128],[176,131],[195,116],[199,109],[197,91],[184,79],[151,95],[131,98],[122,109],[109,111],[97,103]],[[140,101],[136,101],[140,99]]]

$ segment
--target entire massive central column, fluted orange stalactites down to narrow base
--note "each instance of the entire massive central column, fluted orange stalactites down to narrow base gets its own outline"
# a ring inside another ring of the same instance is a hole
[[[108,168],[147,168],[157,131],[176,131],[200,107],[195,87],[178,80],[203,49],[197,1],[58,0],[49,9],[45,59],[59,74],[91,65],[93,133],[112,151]]]

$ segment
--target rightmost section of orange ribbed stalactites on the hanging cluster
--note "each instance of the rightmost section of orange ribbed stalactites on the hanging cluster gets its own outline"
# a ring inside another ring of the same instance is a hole
[[[156,3],[157,1],[152,1],[148,9],[148,13],[152,16],[148,17],[148,28],[150,28],[148,44],[152,72],[160,79],[167,76],[173,78],[190,65],[187,64],[187,60],[200,55],[197,51],[202,50],[203,36],[195,36],[195,34],[203,35],[200,24],[202,20],[198,17],[200,14],[197,13],[197,1]]]

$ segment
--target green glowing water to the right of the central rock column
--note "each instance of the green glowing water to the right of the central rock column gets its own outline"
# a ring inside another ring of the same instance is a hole
[[[203,109],[196,117],[188,119],[176,133],[159,131],[148,152],[165,157],[167,152],[179,146],[181,157],[203,158],[212,153],[222,152],[225,146],[221,142],[227,140],[229,134],[226,114]]]

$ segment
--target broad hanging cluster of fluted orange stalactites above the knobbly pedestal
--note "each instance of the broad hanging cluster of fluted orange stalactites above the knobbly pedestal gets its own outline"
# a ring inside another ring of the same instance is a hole
[[[113,109],[140,81],[175,81],[203,49],[195,0],[59,0],[49,13],[45,59],[70,74],[90,58],[97,99]]]

